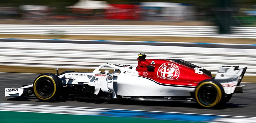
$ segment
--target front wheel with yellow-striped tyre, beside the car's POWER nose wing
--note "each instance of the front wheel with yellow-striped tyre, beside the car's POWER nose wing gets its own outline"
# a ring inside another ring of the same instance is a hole
[[[34,95],[44,102],[56,101],[62,94],[63,84],[60,78],[52,73],[39,75],[33,83]]]

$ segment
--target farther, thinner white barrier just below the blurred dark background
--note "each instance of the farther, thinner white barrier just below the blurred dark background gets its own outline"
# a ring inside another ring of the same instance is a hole
[[[216,26],[0,25],[0,34],[256,38],[256,27],[231,27],[231,34],[218,34],[218,30]]]

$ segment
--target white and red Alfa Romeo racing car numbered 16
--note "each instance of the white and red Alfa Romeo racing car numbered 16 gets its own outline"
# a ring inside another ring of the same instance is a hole
[[[93,72],[43,73],[32,85],[6,88],[5,97],[29,97],[56,101],[73,96],[91,99],[197,102],[213,107],[228,102],[233,93],[242,93],[241,80],[247,67],[222,66],[211,72],[181,59],[146,59],[139,54],[137,67],[103,64]],[[114,69],[100,71],[104,67]]]

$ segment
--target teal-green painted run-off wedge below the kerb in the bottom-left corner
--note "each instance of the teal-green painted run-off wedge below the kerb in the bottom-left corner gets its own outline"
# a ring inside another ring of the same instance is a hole
[[[199,123],[158,119],[0,111],[0,123]]]

